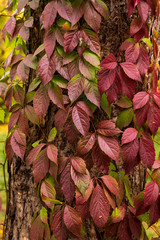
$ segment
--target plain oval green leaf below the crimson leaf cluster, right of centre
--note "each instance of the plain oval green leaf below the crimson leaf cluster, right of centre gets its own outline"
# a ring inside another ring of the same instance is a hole
[[[122,129],[124,127],[127,127],[133,119],[134,112],[132,108],[126,109],[122,112],[120,112],[118,118],[117,118],[117,127]]]

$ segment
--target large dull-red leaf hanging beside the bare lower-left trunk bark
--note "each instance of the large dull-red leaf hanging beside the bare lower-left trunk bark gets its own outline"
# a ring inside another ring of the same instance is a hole
[[[47,149],[41,151],[38,158],[33,161],[33,176],[38,184],[49,171],[49,160],[47,157]]]

